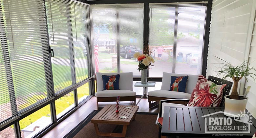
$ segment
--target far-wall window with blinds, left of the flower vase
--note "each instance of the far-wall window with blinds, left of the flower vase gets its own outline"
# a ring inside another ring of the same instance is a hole
[[[92,47],[96,72],[133,72],[135,52],[143,49],[144,4],[91,5]]]

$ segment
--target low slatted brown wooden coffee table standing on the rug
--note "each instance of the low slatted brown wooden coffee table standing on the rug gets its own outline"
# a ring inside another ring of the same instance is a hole
[[[91,120],[91,123],[94,123],[97,136],[125,137],[127,126],[130,125],[132,120],[135,120],[138,109],[139,106],[119,106],[119,113],[116,113],[116,105],[106,105]],[[120,116],[126,118],[121,119]],[[123,125],[123,131],[122,133],[99,132],[98,123]]]

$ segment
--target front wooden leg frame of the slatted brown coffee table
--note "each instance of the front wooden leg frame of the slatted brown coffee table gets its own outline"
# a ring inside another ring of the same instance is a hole
[[[107,137],[125,137],[127,125],[123,125],[122,133],[108,133],[108,132],[99,132],[99,127],[97,123],[94,123],[94,128],[97,136],[107,136]]]

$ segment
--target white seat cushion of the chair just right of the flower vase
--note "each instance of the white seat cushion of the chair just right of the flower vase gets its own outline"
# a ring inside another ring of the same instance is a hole
[[[148,96],[154,97],[165,97],[170,99],[189,99],[191,97],[190,93],[179,92],[179,91],[169,91],[169,90],[154,90],[149,91]]]

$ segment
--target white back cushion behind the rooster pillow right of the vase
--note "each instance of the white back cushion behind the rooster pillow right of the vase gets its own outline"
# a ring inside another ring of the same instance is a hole
[[[171,84],[171,76],[186,76],[186,74],[174,74],[174,73],[163,72],[161,90],[171,89],[171,85],[170,85]],[[197,84],[198,76],[199,75],[188,75],[186,93],[190,93],[190,94],[192,93],[193,89],[195,88],[195,86]],[[158,97],[160,97],[160,96],[158,96]]]

